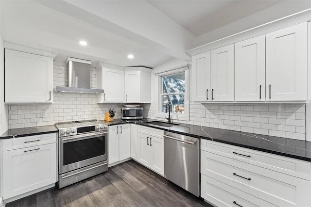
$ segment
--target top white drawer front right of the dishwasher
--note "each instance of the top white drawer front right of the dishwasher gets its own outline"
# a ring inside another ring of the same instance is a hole
[[[212,142],[205,139],[201,139],[201,150],[287,175],[311,180],[311,163],[304,160],[287,158],[230,144]]]

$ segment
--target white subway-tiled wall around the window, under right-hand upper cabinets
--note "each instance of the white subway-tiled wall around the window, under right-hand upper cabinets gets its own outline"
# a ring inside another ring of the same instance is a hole
[[[154,72],[164,72],[185,63],[174,59],[157,66],[154,68]],[[155,79],[153,73],[152,77]],[[152,86],[152,103],[144,104],[144,116],[161,119],[155,115],[155,101],[158,96],[155,93],[156,87],[158,87],[157,81],[154,81]],[[202,111],[204,117],[201,116]],[[202,104],[190,102],[189,117],[189,121],[173,120],[173,122],[306,140],[306,104]]]

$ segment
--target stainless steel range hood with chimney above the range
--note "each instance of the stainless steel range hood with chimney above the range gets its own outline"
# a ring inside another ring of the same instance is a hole
[[[56,92],[63,93],[104,93],[102,89],[90,89],[90,61],[68,57],[67,64],[67,87],[56,86]]]

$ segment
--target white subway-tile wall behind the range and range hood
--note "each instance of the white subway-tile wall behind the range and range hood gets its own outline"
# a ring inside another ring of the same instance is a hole
[[[67,85],[66,69],[65,63],[54,62],[54,87]],[[90,87],[97,88],[97,70],[93,67],[90,70]],[[53,96],[53,104],[10,104],[9,128],[37,127],[87,119],[104,120],[109,108],[116,111],[116,119],[121,118],[122,104],[97,104],[96,94],[54,92]],[[46,112],[47,117],[42,117],[41,111]]]

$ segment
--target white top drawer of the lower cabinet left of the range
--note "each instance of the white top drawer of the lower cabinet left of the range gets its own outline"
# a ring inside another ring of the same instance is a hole
[[[56,143],[56,133],[40,134],[27,137],[18,137],[3,140],[3,151],[37,146],[41,144]]]

